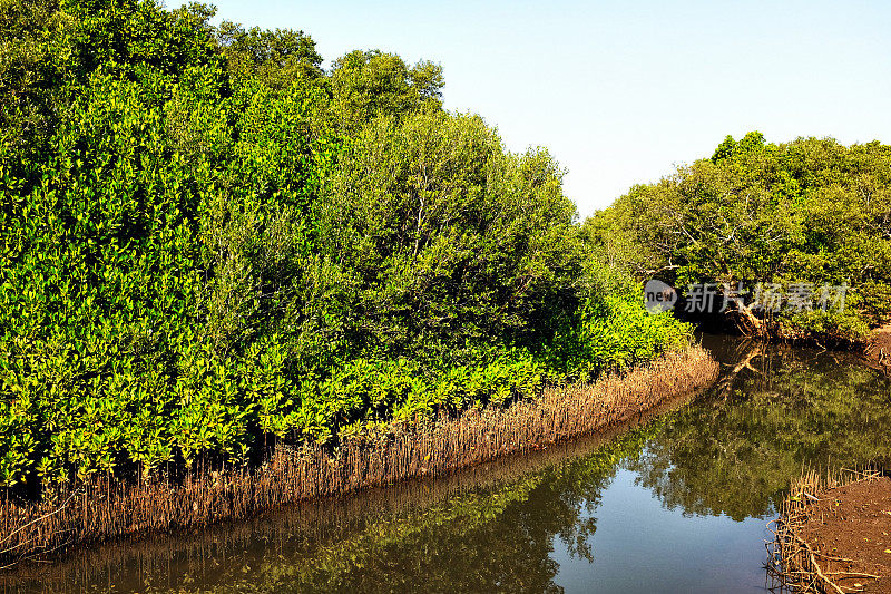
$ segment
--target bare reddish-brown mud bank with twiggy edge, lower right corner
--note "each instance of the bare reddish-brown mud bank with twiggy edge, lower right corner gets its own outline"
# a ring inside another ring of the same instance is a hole
[[[773,565],[796,591],[891,593],[891,478],[800,479],[782,506]]]

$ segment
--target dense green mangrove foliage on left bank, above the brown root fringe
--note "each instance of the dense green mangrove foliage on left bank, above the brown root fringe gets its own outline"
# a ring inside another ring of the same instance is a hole
[[[688,341],[546,150],[442,109],[439,66],[325,69],[303,32],[213,13],[2,2],[8,493],[336,445]]]

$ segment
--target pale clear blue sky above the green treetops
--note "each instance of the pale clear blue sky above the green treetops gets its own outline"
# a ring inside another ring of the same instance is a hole
[[[889,1],[216,4],[303,30],[326,66],[373,48],[439,62],[446,107],[482,115],[511,150],[548,147],[582,217],[727,134],[891,143]]]

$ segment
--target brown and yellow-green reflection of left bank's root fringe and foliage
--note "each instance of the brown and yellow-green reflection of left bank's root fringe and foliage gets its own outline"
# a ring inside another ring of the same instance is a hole
[[[66,588],[80,592],[96,583],[111,583],[126,591],[123,584],[134,580],[143,586],[136,588],[141,592],[145,584],[156,584],[160,578],[180,594],[223,592],[227,591],[227,577],[243,578],[247,566],[262,575],[258,580],[263,585],[257,591],[344,591],[347,588],[337,576],[350,568],[366,569],[385,557],[391,546],[422,538],[428,530],[440,542],[453,532],[472,532],[474,526],[498,518],[511,505],[527,499],[555,469],[580,465],[587,470],[579,474],[588,480],[589,473],[596,473],[594,468],[609,474],[616,462],[639,451],[672,411],[696,397],[694,392],[664,400],[620,426],[442,477],[405,480],[349,497],[307,499],[206,528],[111,539],[78,548],[76,555],[53,557],[52,563],[17,564],[0,572],[0,590],[6,588],[8,594],[57,594]],[[275,561],[262,563],[267,554]],[[208,571],[208,558],[222,565],[212,564],[213,569]],[[493,571],[513,575],[501,564],[496,564]],[[215,585],[196,585],[197,576],[213,576]],[[528,584],[521,578],[517,583]],[[232,590],[237,591],[237,586]]]

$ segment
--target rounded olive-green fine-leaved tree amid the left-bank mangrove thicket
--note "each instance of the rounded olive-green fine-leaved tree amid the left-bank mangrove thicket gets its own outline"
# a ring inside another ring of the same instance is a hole
[[[341,156],[325,208],[366,348],[460,359],[467,341],[528,345],[551,300],[575,300],[575,207],[556,165],[505,154],[478,117],[374,120]]]

